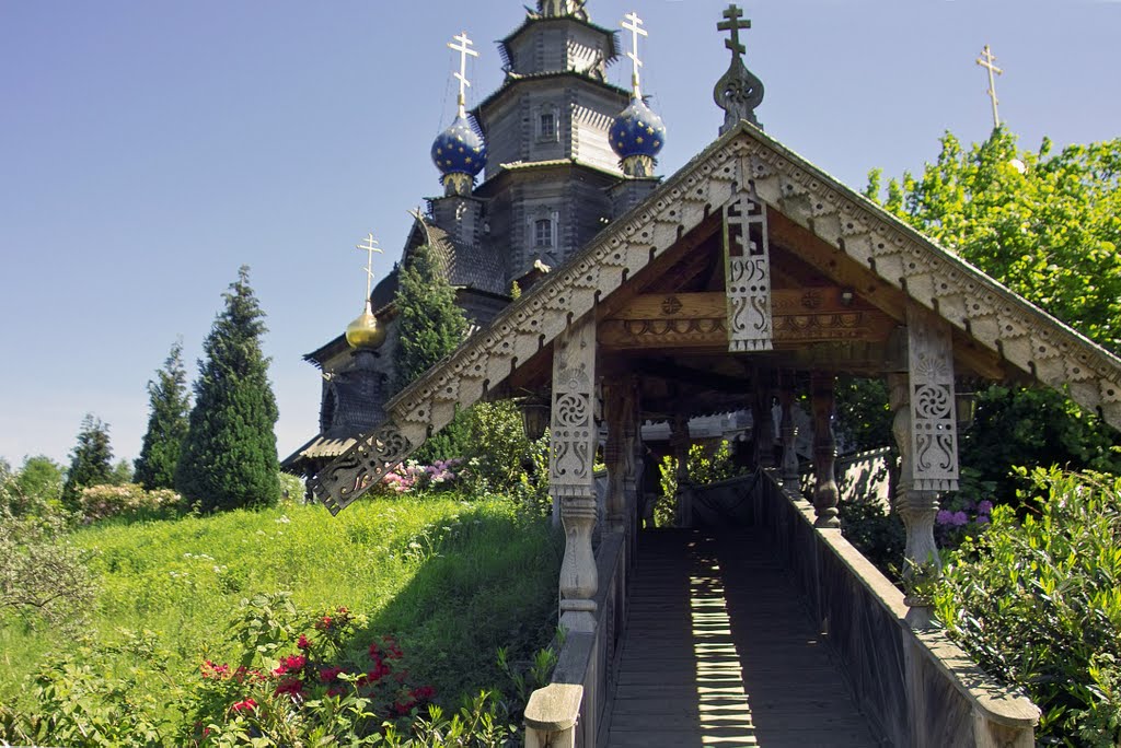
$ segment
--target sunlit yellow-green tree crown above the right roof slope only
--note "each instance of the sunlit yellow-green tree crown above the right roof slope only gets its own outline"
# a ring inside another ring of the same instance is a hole
[[[865,195],[880,193],[880,172]],[[884,207],[1029,301],[1121,349],[1121,138],[1051,155],[999,128],[964,150],[948,132]]]

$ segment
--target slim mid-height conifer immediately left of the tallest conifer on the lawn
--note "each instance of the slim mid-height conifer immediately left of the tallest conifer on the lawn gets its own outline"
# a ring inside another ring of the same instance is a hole
[[[172,488],[191,414],[182,340],[172,346],[164,368],[156,372],[156,381],[148,382],[148,431],[143,434],[133,479],[146,490]]]

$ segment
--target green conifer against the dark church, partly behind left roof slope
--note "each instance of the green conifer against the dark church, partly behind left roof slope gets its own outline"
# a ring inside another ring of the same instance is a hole
[[[427,245],[413,250],[398,270],[397,347],[393,352],[393,390],[428,371],[455,350],[467,334],[467,320],[455,305],[455,289],[439,272]],[[456,415],[425,442],[416,458],[423,462],[462,457],[470,443],[466,415]]]

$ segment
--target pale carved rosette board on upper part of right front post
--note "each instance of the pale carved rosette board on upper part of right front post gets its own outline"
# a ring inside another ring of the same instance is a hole
[[[957,489],[957,414],[949,325],[915,305],[907,308],[910,373],[910,462],[914,490]]]

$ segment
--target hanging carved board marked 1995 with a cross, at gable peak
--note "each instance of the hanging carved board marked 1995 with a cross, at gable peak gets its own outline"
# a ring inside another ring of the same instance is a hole
[[[771,350],[775,325],[767,206],[748,193],[724,206],[724,279],[728,349]]]

